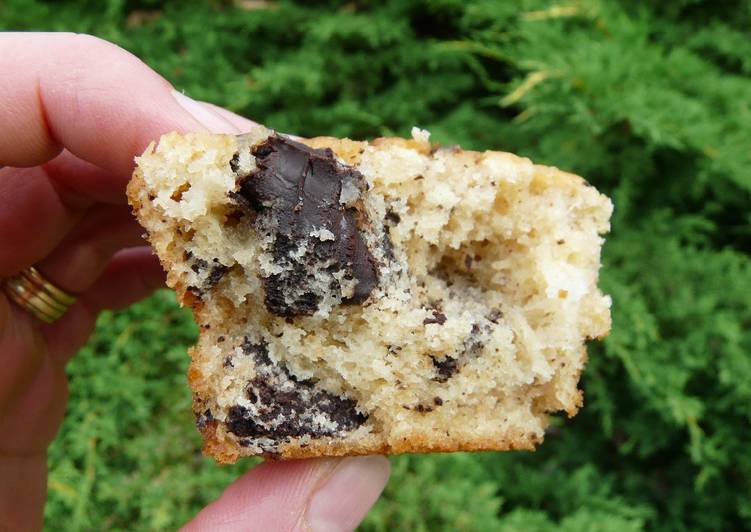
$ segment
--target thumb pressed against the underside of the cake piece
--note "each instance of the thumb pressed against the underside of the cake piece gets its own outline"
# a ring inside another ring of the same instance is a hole
[[[265,462],[236,480],[183,532],[351,531],[388,476],[382,456]]]

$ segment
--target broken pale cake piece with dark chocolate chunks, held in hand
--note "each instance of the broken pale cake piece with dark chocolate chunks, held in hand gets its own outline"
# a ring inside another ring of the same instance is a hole
[[[128,196],[200,326],[219,462],[533,449],[610,329],[610,200],[508,153],[171,133]]]

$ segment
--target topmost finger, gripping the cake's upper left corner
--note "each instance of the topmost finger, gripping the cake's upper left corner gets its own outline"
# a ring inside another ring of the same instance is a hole
[[[89,35],[0,34],[0,72],[0,166],[38,165],[67,148],[127,178],[161,134],[202,129],[164,78]]]

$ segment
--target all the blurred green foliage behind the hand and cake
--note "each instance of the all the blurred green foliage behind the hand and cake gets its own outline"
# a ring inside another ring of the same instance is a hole
[[[584,175],[616,205],[585,407],[534,453],[402,456],[363,530],[751,529],[751,3],[0,1],[282,131],[419,125]],[[170,530],[253,465],[202,458],[169,293],[70,365],[50,530]]]

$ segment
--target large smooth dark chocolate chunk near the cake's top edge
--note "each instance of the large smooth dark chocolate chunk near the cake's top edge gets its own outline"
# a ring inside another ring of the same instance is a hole
[[[258,169],[240,178],[238,194],[258,214],[256,230],[272,237],[268,251],[282,269],[264,279],[266,307],[278,316],[310,315],[328,290],[338,292],[342,303],[363,303],[378,282],[359,227],[365,178],[338,163],[328,148],[276,134],[253,155]],[[337,272],[355,281],[350,295],[333,276]],[[321,279],[330,280],[328,288]]]

